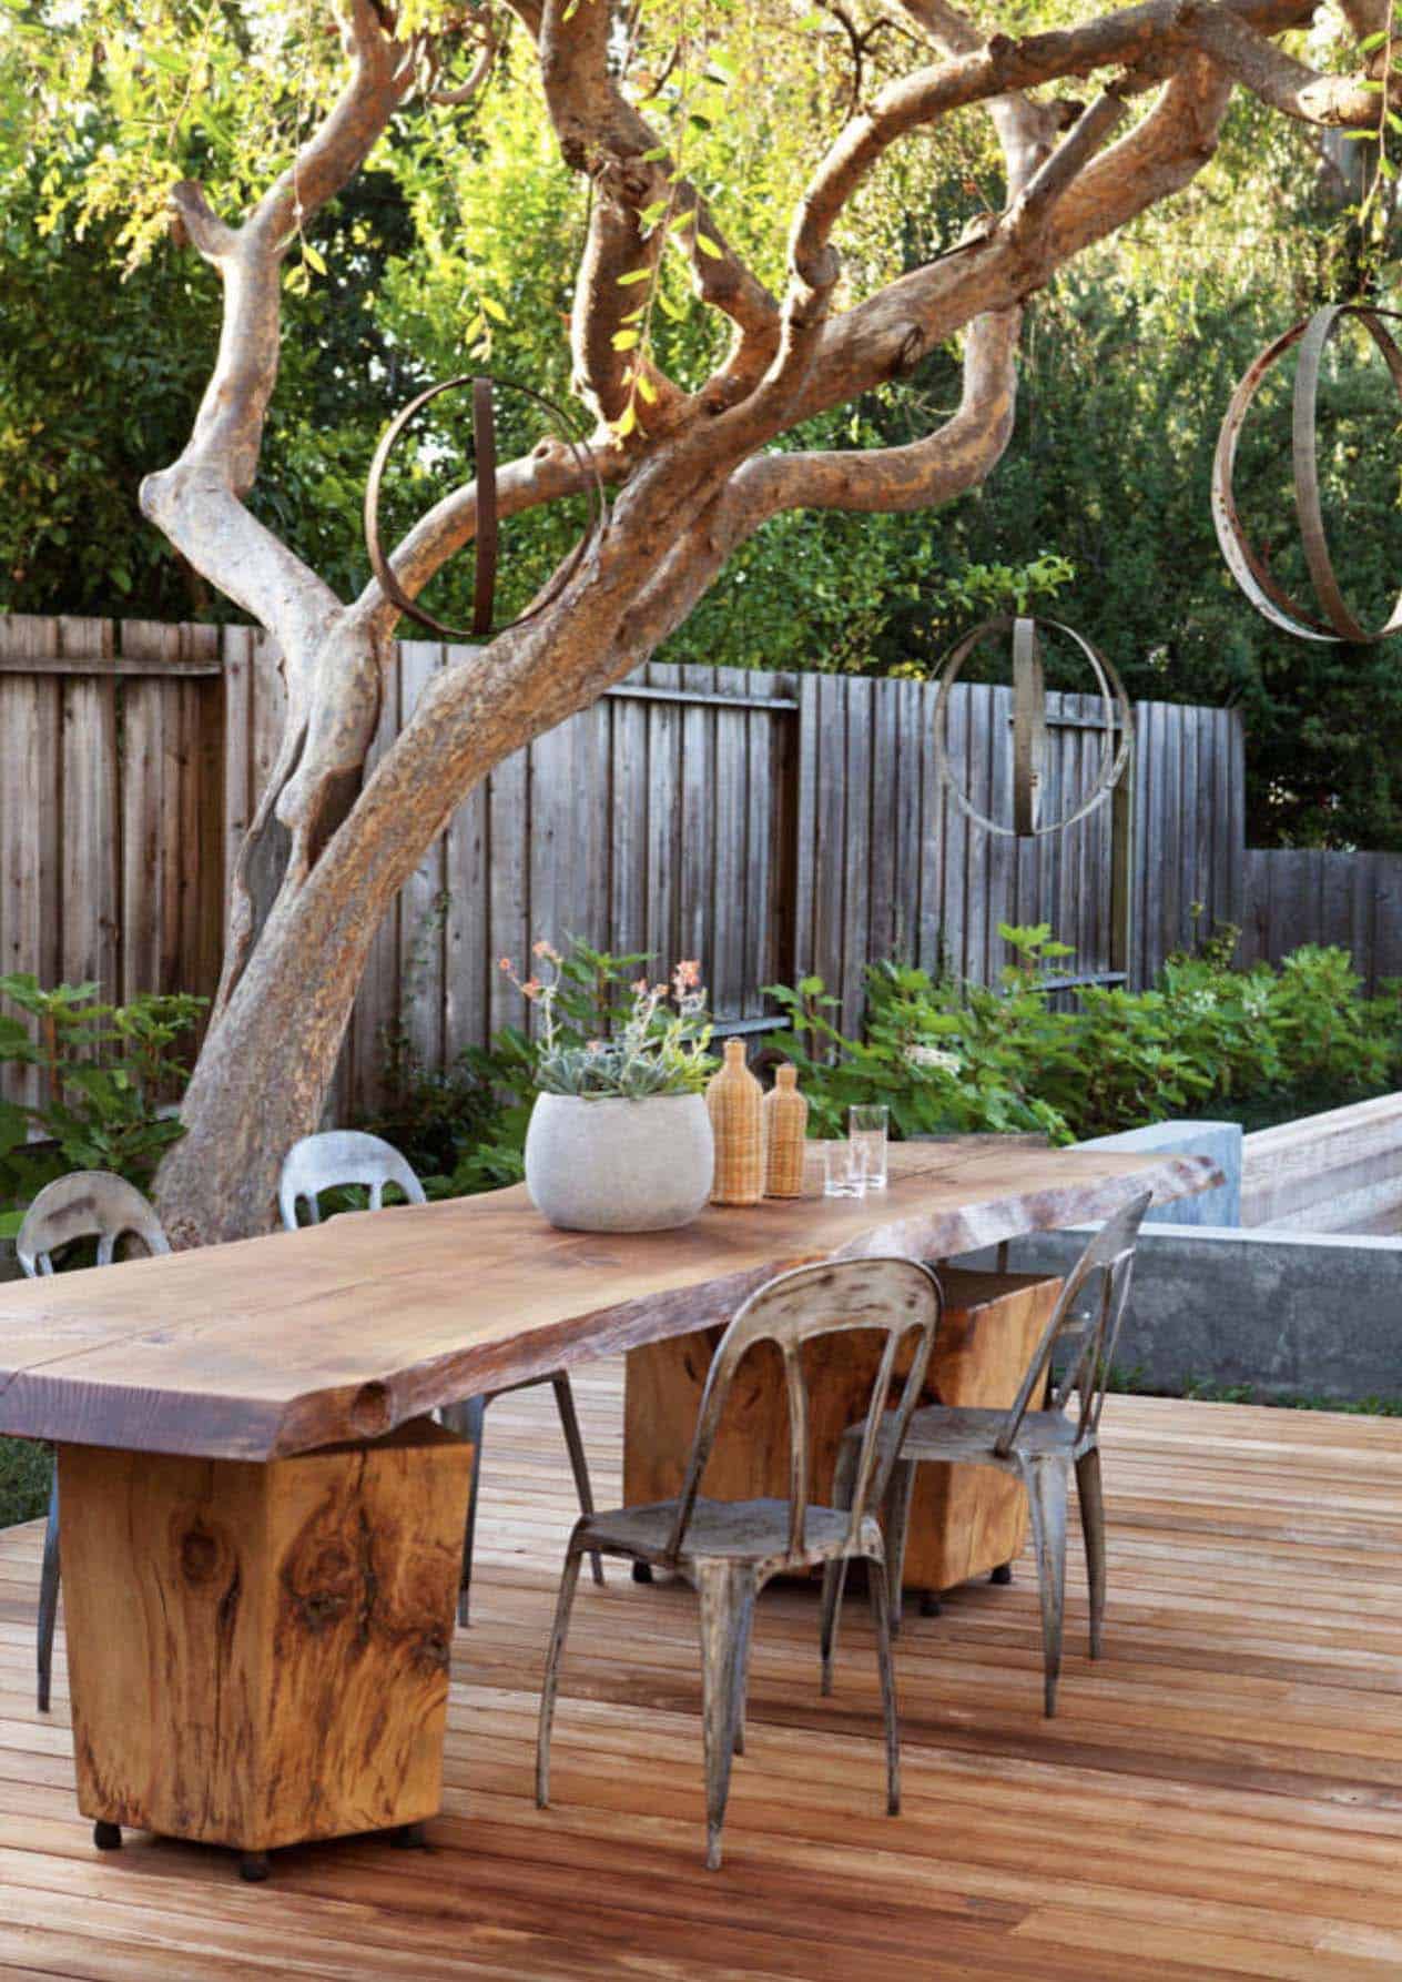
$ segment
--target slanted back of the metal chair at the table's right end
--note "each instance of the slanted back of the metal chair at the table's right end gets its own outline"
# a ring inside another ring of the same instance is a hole
[[[1113,1219],[1107,1219],[1067,1274],[1061,1298],[1042,1332],[1042,1342],[1022,1379],[1016,1403],[994,1441],[994,1451],[1002,1459],[1012,1451],[1032,1399],[1046,1391],[1057,1344],[1067,1336],[1075,1342],[1075,1354],[1052,1393],[1052,1409],[1065,1409],[1075,1391],[1079,1399],[1077,1437],[1083,1439],[1099,1429],[1101,1409],[1105,1407],[1105,1385],[1135,1270],[1139,1227],[1152,1201],[1154,1193],[1143,1191],[1117,1211]],[[1089,1314],[1083,1298],[1087,1288]]]

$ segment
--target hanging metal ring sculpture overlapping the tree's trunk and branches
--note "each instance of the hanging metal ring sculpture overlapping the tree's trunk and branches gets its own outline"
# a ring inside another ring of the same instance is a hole
[[[428,406],[430,400],[438,398],[442,392],[451,392],[461,385],[471,386],[471,430],[473,430],[473,476],[477,482],[477,569],[473,575],[473,601],[471,601],[471,626],[446,626],[444,620],[434,618],[416,599],[404,591],[400,581],[394,577],[394,567],[390,565],[384,549],[380,545],[380,482],[384,480],[384,468],[390,460],[394,442],[400,438],[410,420]],[[560,426],[562,440],[584,480],[584,488],[590,496],[590,521],[588,529],[576,543],[566,565],[556,573],[554,581],[547,589],[545,597],[539,599],[529,612],[521,612],[513,620],[495,626],[491,618],[495,589],[497,589],[497,418],[493,404],[493,390],[501,388],[507,392],[523,392],[527,398],[535,400],[537,406],[545,406],[549,414]],[[517,379],[489,379],[473,377],[463,373],[457,379],[444,379],[442,385],[430,385],[426,392],[412,398],[402,412],[396,412],[390,424],[380,434],[380,444],[374,450],[374,460],[370,462],[370,478],[364,486],[364,547],[370,553],[370,569],[380,581],[380,591],[396,605],[400,612],[418,620],[420,626],[430,626],[444,640],[491,640],[499,632],[507,632],[511,626],[525,626],[527,620],[537,618],[547,606],[554,605],[564,587],[570,583],[588,547],[604,533],[608,527],[608,505],[604,501],[604,478],[598,472],[598,462],[590,452],[588,444],[574,440],[568,430],[568,416],[554,400],[537,392],[529,385],[521,385]]]

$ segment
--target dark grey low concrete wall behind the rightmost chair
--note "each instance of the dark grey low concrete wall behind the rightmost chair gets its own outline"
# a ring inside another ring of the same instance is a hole
[[[1065,1272],[1085,1239],[1016,1239],[1008,1265]],[[1198,1379],[1341,1403],[1402,1395],[1402,1237],[1145,1227],[1115,1362],[1164,1389]]]

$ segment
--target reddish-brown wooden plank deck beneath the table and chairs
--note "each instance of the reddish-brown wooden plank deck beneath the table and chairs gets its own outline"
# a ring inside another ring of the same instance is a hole
[[[600,1494],[620,1370],[578,1379]],[[1061,1714],[1036,1592],[968,1588],[899,1645],[905,1816],[885,1817],[871,1635],[818,1697],[816,1597],[754,1647],[727,1863],[701,1863],[693,1599],[580,1584],[531,1802],[537,1675],[572,1516],[551,1393],[489,1415],[477,1621],[459,1633],[432,1851],[99,1857],[65,1695],[32,1695],[38,1530],[0,1536],[0,1982],[1301,1982],[1402,1976],[1402,1425],[1111,1399],[1109,1647],[1071,1580]]]

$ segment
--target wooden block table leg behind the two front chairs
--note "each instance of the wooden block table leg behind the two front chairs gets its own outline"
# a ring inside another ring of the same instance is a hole
[[[1002,1409],[1018,1395],[1042,1340],[1059,1280],[1022,1272],[941,1272],[945,1318],[925,1403]],[[675,1336],[628,1352],[624,1385],[624,1500],[667,1500],[681,1488],[701,1387],[721,1330]],[[814,1498],[832,1492],[838,1445],[867,1407],[879,1346],[873,1336],[808,1344]],[[899,1372],[903,1374],[903,1372]],[[788,1407],[782,1366],[756,1348],[737,1379],[701,1483],[717,1500],[788,1492]],[[1028,1538],[1028,1496],[994,1467],[921,1467],[905,1552],[907,1590],[951,1590],[1012,1562]]]

